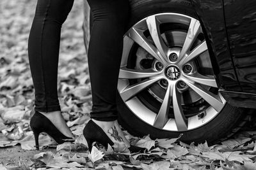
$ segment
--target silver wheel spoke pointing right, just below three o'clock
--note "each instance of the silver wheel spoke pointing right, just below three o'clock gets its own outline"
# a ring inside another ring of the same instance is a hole
[[[216,88],[218,87],[214,76],[211,76],[211,77],[203,76],[200,73],[194,73],[191,75],[184,74],[184,76],[186,76],[186,78],[188,78],[189,80],[193,80],[196,83],[200,83],[202,85],[207,85],[207,86],[216,87]]]

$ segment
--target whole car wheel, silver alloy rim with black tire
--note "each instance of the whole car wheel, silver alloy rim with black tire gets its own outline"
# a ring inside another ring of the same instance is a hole
[[[135,136],[214,143],[246,121],[221,96],[189,1],[131,1],[118,80],[119,122]]]

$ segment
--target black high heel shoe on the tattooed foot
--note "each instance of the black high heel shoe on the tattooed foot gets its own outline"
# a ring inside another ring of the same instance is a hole
[[[114,143],[111,139],[108,138],[108,135],[99,127],[99,125],[95,124],[92,120],[90,120],[83,130],[84,138],[87,141],[89,151],[92,152],[92,144],[97,141],[105,148],[108,148],[108,144],[113,146]],[[142,152],[145,148],[140,148],[138,146],[130,146],[128,148],[131,153]]]

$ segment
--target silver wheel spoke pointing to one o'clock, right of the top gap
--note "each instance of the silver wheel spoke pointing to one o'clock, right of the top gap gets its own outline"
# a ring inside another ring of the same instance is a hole
[[[200,33],[200,22],[194,18],[191,18],[188,34],[186,36],[182,50],[180,51],[180,54],[179,54],[180,59],[182,59],[182,57],[184,57],[184,55],[189,52],[191,46],[195,42],[195,39],[199,33]]]

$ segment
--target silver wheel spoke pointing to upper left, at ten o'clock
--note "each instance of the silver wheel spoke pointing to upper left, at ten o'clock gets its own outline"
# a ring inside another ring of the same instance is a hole
[[[143,31],[132,27],[126,34],[129,38],[135,41],[140,45],[144,50],[146,50],[150,55],[160,62],[163,62],[164,59],[161,57],[161,54],[158,52],[156,46],[152,45],[150,41],[144,36]]]

